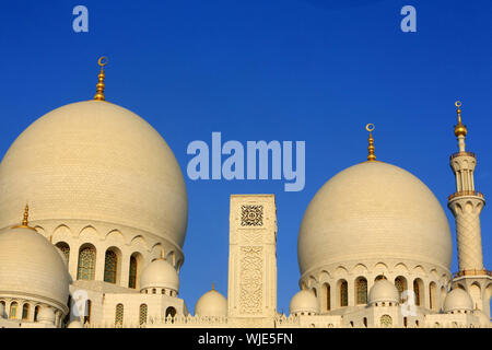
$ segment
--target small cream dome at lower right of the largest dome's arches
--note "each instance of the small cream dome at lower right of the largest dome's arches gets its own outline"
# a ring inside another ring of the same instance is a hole
[[[149,288],[171,289],[179,291],[179,276],[173,266],[164,259],[149,264],[140,277],[140,290]]]

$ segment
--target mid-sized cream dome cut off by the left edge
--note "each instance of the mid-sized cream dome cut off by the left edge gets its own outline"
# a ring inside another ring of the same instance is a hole
[[[43,299],[67,308],[70,276],[58,253],[34,229],[7,229],[0,233],[0,285],[9,294]]]

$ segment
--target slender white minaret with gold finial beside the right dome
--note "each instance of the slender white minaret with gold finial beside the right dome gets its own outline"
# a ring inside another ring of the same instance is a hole
[[[449,164],[456,176],[456,192],[449,196],[447,203],[455,215],[458,241],[459,271],[454,282],[456,287],[467,290],[475,306],[490,316],[492,277],[483,267],[480,232],[480,212],[485,206],[485,199],[475,188],[473,172],[477,158],[475,153],[466,151],[467,127],[461,122],[461,103],[458,101],[455,105],[458,108],[458,124],[455,126],[458,152],[450,155]]]

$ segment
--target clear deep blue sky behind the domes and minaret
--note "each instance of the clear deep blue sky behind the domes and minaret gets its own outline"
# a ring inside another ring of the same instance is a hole
[[[72,9],[89,9],[89,33]],[[400,9],[417,9],[417,33]],[[229,197],[276,194],[279,310],[297,290],[297,231],[315,192],[365,160],[367,122],[378,160],[423,180],[446,208],[455,190],[454,102],[462,101],[477,188],[492,196],[491,1],[10,1],[0,11],[0,153],[31,122],[90,100],[96,60],[109,57],[106,98],[145,118],[186,174],[192,140],[305,140],[306,187],[283,182],[192,182],[180,273],[190,310],[212,281],[227,291]],[[487,198],[487,197],[485,197]],[[492,198],[492,197],[489,197]],[[424,209],[423,209],[424,210]],[[481,215],[492,269],[492,210]]]

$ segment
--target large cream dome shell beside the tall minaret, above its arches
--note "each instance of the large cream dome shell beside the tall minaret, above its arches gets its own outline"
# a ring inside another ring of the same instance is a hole
[[[351,166],[311,201],[297,244],[301,273],[330,264],[408,259],[449,270],[452,236],[440,202],[409,172],[383,162]]]

